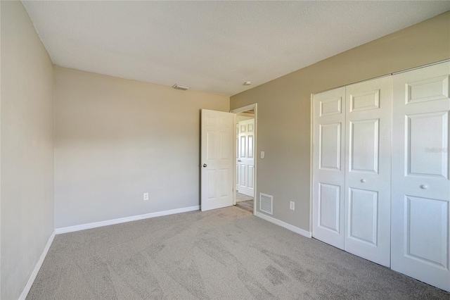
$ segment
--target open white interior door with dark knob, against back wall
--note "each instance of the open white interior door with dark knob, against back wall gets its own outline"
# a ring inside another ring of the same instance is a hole
[[[235,115],[202,109],[202,211],[233,205],[233,130]]]

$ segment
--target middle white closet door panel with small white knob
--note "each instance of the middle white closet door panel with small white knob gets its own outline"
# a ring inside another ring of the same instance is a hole
[[[345,251],[390,266],[392,78],[346,87]]]

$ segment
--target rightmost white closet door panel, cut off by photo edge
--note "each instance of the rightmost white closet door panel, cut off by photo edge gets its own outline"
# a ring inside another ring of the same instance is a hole
[[[394,75],[392,269],[450,291],[450,63]]]

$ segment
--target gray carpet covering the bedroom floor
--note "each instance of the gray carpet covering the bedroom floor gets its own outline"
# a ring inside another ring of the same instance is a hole
[[[236,207],[57,235],[27,299],[450,299]]]

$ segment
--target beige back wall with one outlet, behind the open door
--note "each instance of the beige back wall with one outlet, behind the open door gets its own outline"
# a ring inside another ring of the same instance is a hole
[[[58,67],[54,78],[56,228],[200,204],[200,109],[229,111],[229,97]]]

